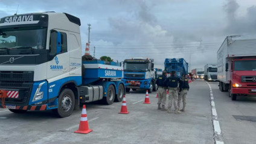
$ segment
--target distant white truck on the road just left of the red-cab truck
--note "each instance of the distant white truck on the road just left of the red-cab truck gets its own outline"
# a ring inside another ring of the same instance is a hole
[[[204,75],[205,81],[217,81],[217,64],[206,64]]]

